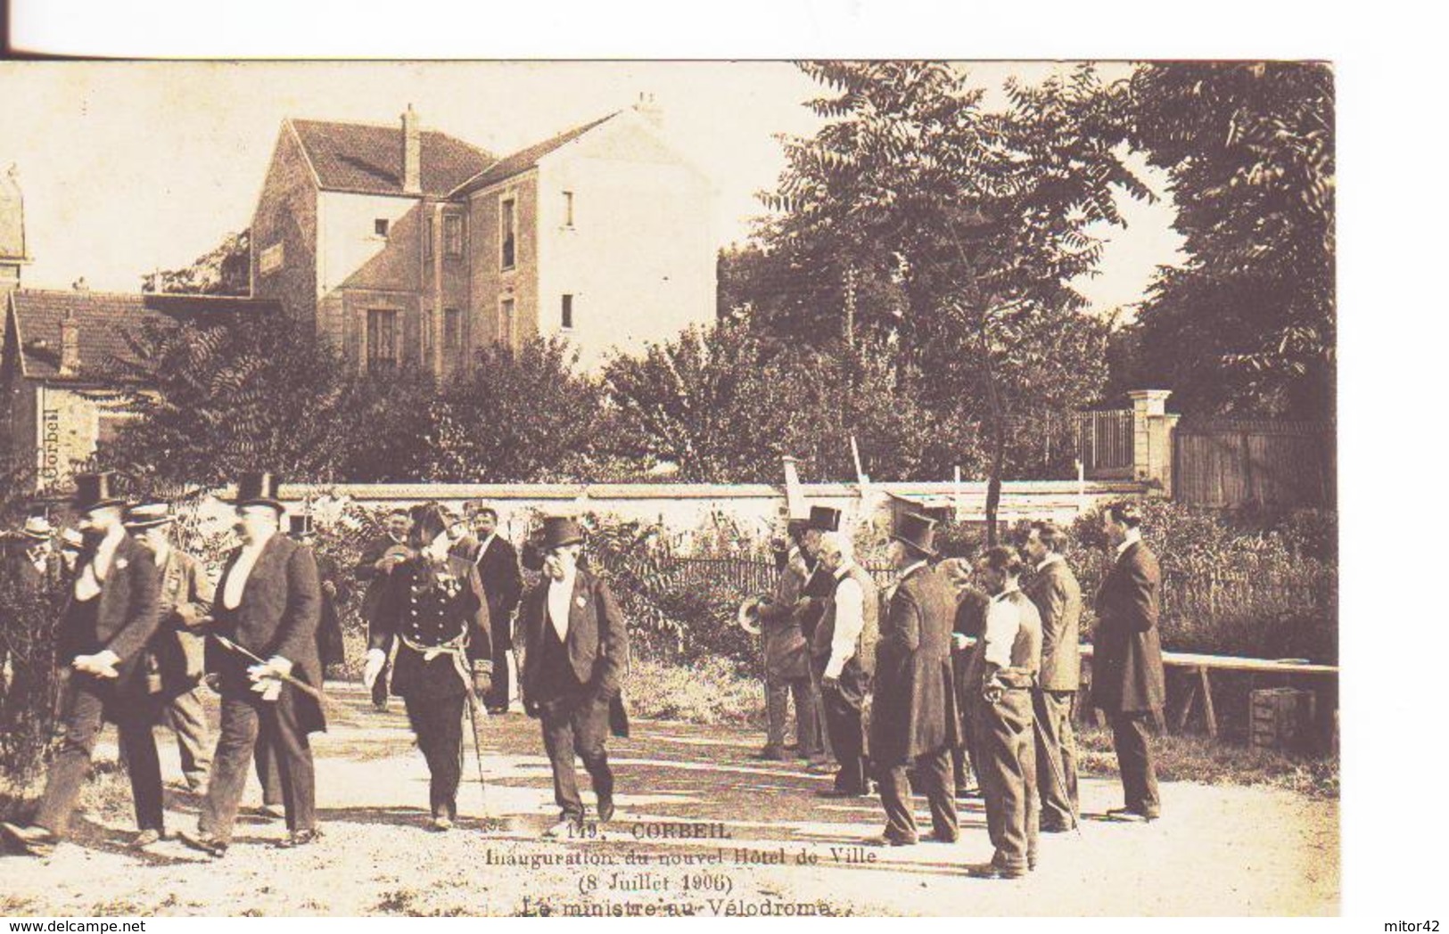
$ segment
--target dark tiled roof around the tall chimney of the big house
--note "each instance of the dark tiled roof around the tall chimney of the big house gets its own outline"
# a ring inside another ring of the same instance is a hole
[[[326,191],[403,194],[403,127],[291,120]],[[423,194],[443,197],[494,164],[491,152],[435,130],[420,132]]]

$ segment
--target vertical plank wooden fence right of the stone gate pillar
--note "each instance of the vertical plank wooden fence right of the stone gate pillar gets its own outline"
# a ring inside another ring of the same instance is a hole
[[[1210,507],[1333,507],[1335,432],[1311,421],[1211,420],[1177,427],[1172,494]]]

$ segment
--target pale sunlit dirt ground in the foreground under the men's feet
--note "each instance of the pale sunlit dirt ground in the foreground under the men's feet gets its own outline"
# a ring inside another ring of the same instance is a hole
[[[538,834],[556,811],[538,727],[522,714],[494,718],[484,740],[488,808],[503,827],[484,833],[475,820],[474,781],[459,795],[459,828],[435,834],[423,827],[427,772],[398,705],[377,714],[355,689],[332,694],[348,711],[314,743],[320,844],[264,846],[284,834],[281,822],[248,809],[232,851],[213,864],[178,841],[148,854],[126,851],[129,815],[78,817],[75,843],[51,859],[0,863],[0,914],[1339,911],[1336,802],[1165,783],[1166,817],[1140,827],[1090,820],[1116,807],[1120,791],[1111,781],[1084,779],[1081,836],[1043,837],[1042,864],[1027,879],[982,882],[962,872],[991,854],[980,802],[962,808],[958,844],[856,849],[882,825],[877,801],[819,799],[813,791],[827,779],[749,757],[761,736],[675,723],[636,723],[632,739],[613,741],[619,815],[600,838],[548,843]],[[170,737],[162,754],[167,775],[178,776]],[[581,779],[587,786],[582,772]],[[249,789],[248,802],[256,795]],[[168,791],[171,827],[194,827],[196,804]],[[929,827],[924,802],[917,805]],[[694,838],[661,838],[681,833]]]

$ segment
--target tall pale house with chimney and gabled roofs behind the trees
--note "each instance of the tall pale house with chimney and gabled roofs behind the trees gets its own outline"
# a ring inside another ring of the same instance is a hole
[[[359,366],[446,375],[562,335],[584,366],[714,319],[709,181],[645,103],[498,158],[419,126],[288,119],[252,219],[252,294]]]

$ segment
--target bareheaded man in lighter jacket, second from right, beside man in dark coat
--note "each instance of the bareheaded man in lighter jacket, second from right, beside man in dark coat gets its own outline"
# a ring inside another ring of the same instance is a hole
[[[1036,785],[1042,830],[1077,827],[1077,739],[1072,714],[1081,683],[1078,633],[1082,589],[1062,558],[1066,533],[1055,523],[1032,523],[1023,550],[1036,568],[1026,595],[1042,615],[1042,672],[1032,691],[1036,710]]]

